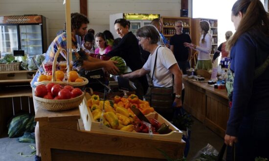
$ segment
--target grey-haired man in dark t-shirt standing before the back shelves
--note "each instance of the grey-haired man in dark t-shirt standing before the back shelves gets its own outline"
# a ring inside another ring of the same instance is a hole
[[[188,34],[182,33],[183,22],[181,20],[176,21],[175,29],[176,35],[172,36],[170,39],[170,49],[174,53],[176,60],[178,61],[179,68],[182,70],[183,74],[186,74],[186,69],[190,68],[190,56],[191,50],[188,47],[184,47],[183,43],[191,43],[191,38]]]

